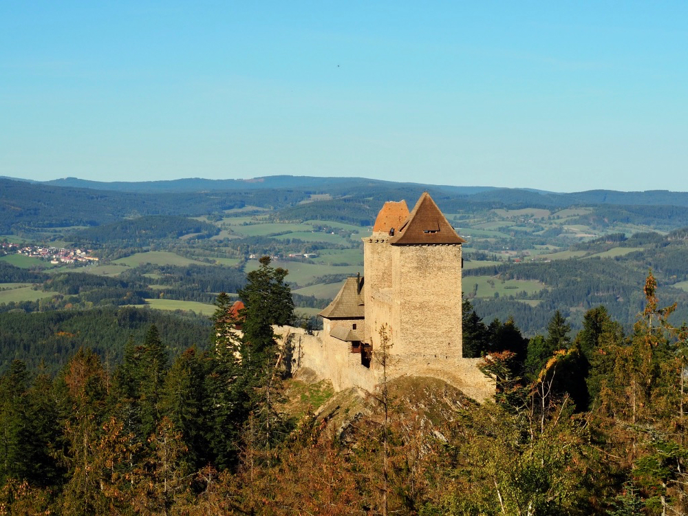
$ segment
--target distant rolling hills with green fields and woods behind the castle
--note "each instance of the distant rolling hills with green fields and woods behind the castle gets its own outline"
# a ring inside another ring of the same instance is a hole
[[[464,292],[488,319],[513,315],[533,334],[553,310],[579,327],[583,308],[606,303],[631,327],[649,268],[667,300],[688,299],[686,244],[668,236],[688,226],[688,193],[669,191],[553,193],[288,175],[113,183],[0,178],[0,241],[71,243],[100,258],[98,266],[82,272],[131,277],[129,297],[127,288],[113,283],[98,286],[97,295],[83,292],[78,301],[56,306],[132,299],[158,299],[154,305],[162,306],[164,298],[169,309],[196,310],[197,305],[178,304],[192,302],[211,307],[213,293],[234,292],[255,257],[270,255],[286,262],[302,308],[314,314],[347,275],[363,272],[361,238],[369,235],[383,203],[413,203],[422,191],[429,191],[467,240]],[[0,259],[45,266],[38,258]],[[621,279],[611,281],[616,272],[623,273]],[[186,283],[171,281],[175,276]],[[202,277],[208,280],[201,288]],[[6,299],[36,299],[17,270],[7,278],[26,291],[8,290]],[[688,316],[682,308],[678,312]]]

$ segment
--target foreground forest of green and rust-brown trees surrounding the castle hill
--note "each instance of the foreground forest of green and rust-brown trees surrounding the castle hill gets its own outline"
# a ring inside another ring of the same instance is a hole
[[[464,301],[464,356],[496,385],[479,405],[428,378],[363,394],[292,378],[271,327],[294,323],[286,273],[264,257],[240,320],[220,294],[184,332],[133,308],[5,314],[34,329],[1,347],[0,514],[688,510],[688,328],[652,275],[629,334],[599,305],[575,335],[555,311],[525,338]]]

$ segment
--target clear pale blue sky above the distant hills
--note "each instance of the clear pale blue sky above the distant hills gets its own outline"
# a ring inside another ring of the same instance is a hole
[[[0,175],[688,190],[688,2],[0,3]]]

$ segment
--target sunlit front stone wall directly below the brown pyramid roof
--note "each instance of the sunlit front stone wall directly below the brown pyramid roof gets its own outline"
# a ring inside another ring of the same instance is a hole
[[[395,355],[462,358],[461,246],[391,246]]]

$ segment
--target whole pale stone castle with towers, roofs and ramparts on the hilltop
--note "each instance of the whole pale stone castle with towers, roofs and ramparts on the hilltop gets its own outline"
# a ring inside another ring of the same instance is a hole
[[[462,239],[426,192],[411,212],[387,202],[363,239],[365,277],[348,278],[320,312],[323,330],[290,329],[292,369],[312,369],[336,390],[387,378],[440,378],[476,400],[495,386],[462,357]]]

